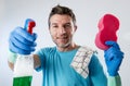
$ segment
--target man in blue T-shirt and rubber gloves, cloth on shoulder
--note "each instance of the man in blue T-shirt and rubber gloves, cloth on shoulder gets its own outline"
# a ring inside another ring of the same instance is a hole
[[[34,54],[35,70],[42,71],[43,74],[42,86],[121,85],[118,69],[122,61],[123,53],[117,48],[117,42],[106,42],[106,45],[110,46],[110,48],[104,52],[107,72],[109,74],[107,81],[96,53],[92,49],[79,46],[73,41],[77,25],[75,14],[69,8],[62,5],[52,8],[48,23],[50,35],[56,46],[41,48]],[[35,50],[36,38],[36,34],[29,35],[22,27],[15,28],[10,35],[11,53],[30,54]],[[115,44],[116,47],[112,44]],[[113,51],[115,53],[113,53]],[[80,53],[83,57],[80,56]],[[120,56],[120,58],[117,59],[118,56]],[[112,59],[107,60],[108,58]],[[15,59],[15,56],[11,56],[9,59],[9,66],[12,70],[14,67]],[[80,61],[76,59],[82,59],[81,69],[76,65],[76,62],[80,63]],[[87,62],[84,60],[87,60]],[[117,62],[117,64],[115,62]],[[86,67],[82,69],[83,66]]]

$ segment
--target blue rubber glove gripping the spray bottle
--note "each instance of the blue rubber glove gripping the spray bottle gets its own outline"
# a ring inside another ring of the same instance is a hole
[[[30,35],[23,27],[16,27],[9,38],[9,48],[12,52],[20,54],[30,54],[35,51],[37,34]]]

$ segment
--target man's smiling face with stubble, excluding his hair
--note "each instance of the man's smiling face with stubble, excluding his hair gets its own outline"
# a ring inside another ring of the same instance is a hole
[[[68,15],[54,14],[50,19],[50,34],[53,41],[60,48],[65,48],[72,44],[73,35],[77,26]]]

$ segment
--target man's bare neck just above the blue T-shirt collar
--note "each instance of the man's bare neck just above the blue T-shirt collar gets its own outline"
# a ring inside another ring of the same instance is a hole
[[[57,49],[60,50],[60,51],[69,51],[69,50],[74,50],[74,49],[76,49],[76,48],[78,48],[79,46],[78,45],[76,45],[76,44],[70,44],[70,45],[68,45],[68,46],[66,46],[66,47],[57,47]]]

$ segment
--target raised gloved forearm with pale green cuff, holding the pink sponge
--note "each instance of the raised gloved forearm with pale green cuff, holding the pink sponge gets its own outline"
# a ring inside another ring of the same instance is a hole
[[[107,86],[121,86],[118,71],[123,59],[123,52],[115,41],[106,41],[105,44],[109,46],[109,48],[104,51],[105,63],[108,72]]]

